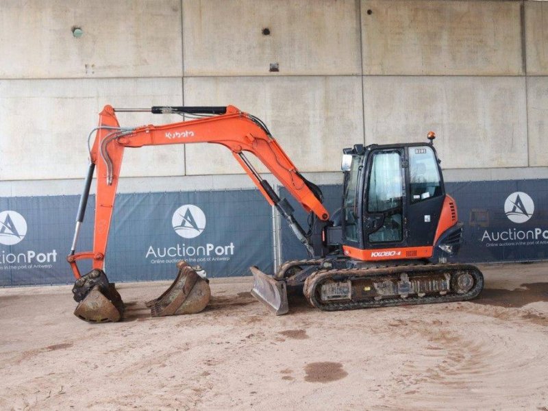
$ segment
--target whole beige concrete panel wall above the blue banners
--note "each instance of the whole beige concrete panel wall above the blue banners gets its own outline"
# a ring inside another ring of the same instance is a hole
[[[446,179],[548,177],[546,16],[542,1],[5,0],[0,195],[79,192],[105,104],[238,105],[323,183],[343,147],[431,129]],[[249,186],[232,173],[223,149],[147,147],[127,150],[121,188]]]

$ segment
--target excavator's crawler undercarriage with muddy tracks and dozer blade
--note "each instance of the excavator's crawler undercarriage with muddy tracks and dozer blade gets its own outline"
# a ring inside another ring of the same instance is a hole
[[[253,295],[278,315],[288,312],[286,286],[302,286],[312,306],[325,311],[466,301],[484,286],[481,271],[468,264],[347,268],[340,260],[321,259],[286,262],[274,277],[256,268],[252,272]]]

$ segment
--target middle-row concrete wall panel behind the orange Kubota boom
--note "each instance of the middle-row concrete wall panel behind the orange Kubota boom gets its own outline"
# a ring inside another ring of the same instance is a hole
[[[340,170],[341,150],[363,142],[361,94],[360,77],[349,76],[184,79],[186,105],[232,104],[258,116],[303,172]],[[243,171],[224,147],[188,145],[186,173]]]

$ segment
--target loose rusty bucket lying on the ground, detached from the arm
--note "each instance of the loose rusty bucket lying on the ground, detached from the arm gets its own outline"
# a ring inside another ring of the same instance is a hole
[[[157,299],[147,301],[152,316],[195,314],[210,302],[209,281],[200,277],[185,261],[177,262],[175,281]]]

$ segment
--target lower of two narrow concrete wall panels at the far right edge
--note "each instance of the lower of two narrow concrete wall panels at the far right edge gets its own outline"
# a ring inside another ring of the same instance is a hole
[[[548,166],[548,77],[527,79],[530,166]]]

